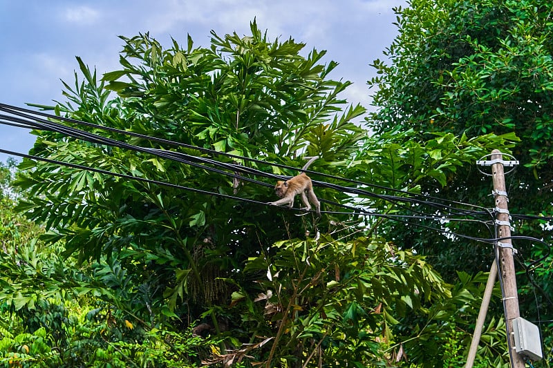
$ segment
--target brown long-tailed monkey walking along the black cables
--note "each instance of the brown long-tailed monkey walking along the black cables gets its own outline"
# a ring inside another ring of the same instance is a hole
[[[273,206],[288,204],[288,207],[291,209],[292,206],[294,206],[294,198],[299,194],[301,195],[301,202],[306,205],[304,210],[309,211],[311,209],[311,204],[313,204],[313,206],[315,206],[315,211],[317,211],[317,217],[321,217],[321,203],[317,200],[317,196],[313,191],[311,178],[304,173],[311,162],[315,161],[317,158],[319,157],[311,157],[303,168],[301,168],[299,175],[285,181],[279,180],[277,185],[274,186],[274,193],[281,199],[275,202],[268,202],[268,204],[272,204]],[[309,202],[311,202],[311,204]]]

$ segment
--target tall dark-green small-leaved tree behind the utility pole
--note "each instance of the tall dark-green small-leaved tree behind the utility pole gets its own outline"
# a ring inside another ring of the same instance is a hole
[[[431,133],[451,132],[478,137],[482,133],[514,133],[520,139],[512,153],[521,165],[512,174],[509,209],[517,233],[545,240],[553,201],[550,149],[553,88],[552,4],[547,1],[410,1],[397,9],[400,35],[386,50],[390,64],[375,61],[379,77],[374,103],[379,109],[368,123],[378,133],[412,129],[413,139],[425,142]],[[440,197],[491,207],[491,182],[475,175],[474,164],[447,178]],[[422,193],[435,193],[433,183],[422,183]],[[514,213],[522,215],[515,216]],[[529,216],[528,216],[529,215]],[[538,217],[536,217],[536,215]],[[540,220],[540,217],[545,217]],[[474,226],[450,224],[456,233],[482,234]],[[460,269],[485,271],[491,247],[451,241],[428,232],[404,233],[400,244],[414,246],[449,281]],[[489,235],[485,235],[489,238]],[[519,257],[551,263],[549,246],[515,240]],[[547,257],[547,255],[549,255]],[[546,258],[544,259],[543,256]],[[550,267],[539,271],[550,274]],[[545,276],[547,278],[547,276]],[[523,316],[536,319],[535,305],[550,311],[550,286],[543,284],[537,303],[527,278],[519,278]],[[550,338],[545,336],[546,341]]]

